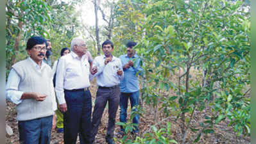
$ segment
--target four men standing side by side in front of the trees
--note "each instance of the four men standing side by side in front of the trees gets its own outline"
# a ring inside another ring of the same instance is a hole
[[[121,108],[120,121],[126,122],[128,99],[132,108],[139,105],[137,74],[142,68],[133,50],[135,45],[135,42],[128,42],[127,54],[117,58],[112,55],[113,43],[106,40],[102,44],[104,54],[91,61],[85,42],[74,38],[71,52],[58,60],[54,90],[51,67],[42,62],[50,60],[45,58],[47,42],[40,36],[31,37],[26,46],[30,57],[12,66],[6,83],[6,99],[17,104],[21,143],[50,143],[57,98],[58,109],[64,115],[64,143],[76,143],[78,134],[80,143],[94,143],[108,103],[106,141],[113,144],[118,106]],[[98,91],[92,113],[89,86],[94,77],[97,77]],[[139,115],[135,115],[133,123],[137,124],[133,129],[136,134],[139,132]],[[124,134],[123,127],[121,131]]]

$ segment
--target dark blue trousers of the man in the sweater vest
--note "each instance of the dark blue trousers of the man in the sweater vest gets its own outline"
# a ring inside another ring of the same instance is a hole
[[[53,116],[19,121],[19,140],[21,144],[49,144]]]

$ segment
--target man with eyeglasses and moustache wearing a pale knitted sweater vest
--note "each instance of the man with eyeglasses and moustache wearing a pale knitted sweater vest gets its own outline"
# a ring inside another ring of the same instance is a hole
[[[28,57],[12,66],[6,83],[6,99],[17,104],[21,143],[49,144],[56,99],[51,67],[42,62],[46,40],[33,36],[26,44]]]

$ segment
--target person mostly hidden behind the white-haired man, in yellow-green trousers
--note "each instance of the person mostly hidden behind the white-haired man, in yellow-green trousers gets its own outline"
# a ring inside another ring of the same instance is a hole
[[[66,54],[69,54],[69,52],[70,52],[70,49],[67,47],[64,47],[60,51],[60,56],[65,56]],[[56,73],[56,67],[58,65],[58,61],[59,60],[56,60],[55,63],[53,64],[53,77],[54,77],[54,74]],[[63,114],[59,109],[57,109],[55,111],[55,113],[57,116],[56,129],[57,129],[57,132],[60,133],[60,132],[64,131],[64,129],[63,129]]]

